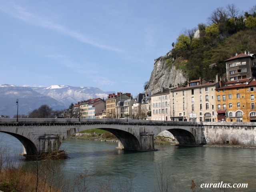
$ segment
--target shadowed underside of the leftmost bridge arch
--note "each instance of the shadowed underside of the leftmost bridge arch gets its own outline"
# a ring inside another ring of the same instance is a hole
[[[1,131],[1,132],[9,134],[9,135],[17,138],[22,143],[22,145],[24,147],[24,154],[28,154],[28,155],[36,155],[37,154],[36,145],[28,138],[21,136],[19,134],[11,133],[11,132],[5,132],[5,131]]]

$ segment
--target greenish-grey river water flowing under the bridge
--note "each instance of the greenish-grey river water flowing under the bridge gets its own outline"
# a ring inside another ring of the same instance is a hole
[[[0,146],[10,146],[12,157],[23,150],[20,142],[7,134],[1,133],[0,141]],[[163,179],[172,180],[172,185],[175,180],[177,191],[190,191],[192,179],[198,186],[222,181],[247,183],[248,188],[240,191],[256,189],[256,149],[156,145],[158,151],[132,152],[116,150],[117,146],[115,142],[65,140],[61,149],[68,151],[70,158],[60,161],[64,177],[72,183],[86,170],[92,185],[108,184],[116,191],[121,185],[132,186],[136,192],[160,191],[161,173]],[[211,190],[204,188],[203,191]]]

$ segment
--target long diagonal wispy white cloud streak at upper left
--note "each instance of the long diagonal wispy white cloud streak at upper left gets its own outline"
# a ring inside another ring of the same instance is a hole
[[[124,52],[124,50],[122,49],[98,43],[96,40],[91,40],[90,38],[86,37],[84,34],[78,33],[74,30],[70,30],[60,24],[53,22],[49,18],[44,18],[36,14],[33,14],[31,12],[28,12],[25,8],[17,4],[2,3],[0,4],[0,11],[5,12],[6,14],[9,14],[10,16],[15,17],[19,20],[22,20],[24,22],[60,32],[62,34],[75,38],[80,42],[90,44],[92,46],[95,46],[104,50],[109,50],[109,51],[119,52],[119,53]]]

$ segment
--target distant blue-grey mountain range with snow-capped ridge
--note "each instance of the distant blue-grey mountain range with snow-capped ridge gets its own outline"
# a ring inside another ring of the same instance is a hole
[[[50,87],[20,87],[0,85],[0,115],[28,114],[43,104],[54,110],[67,109],[71,103],[92,98],[107,98],[109,93],[94,87],[73,87],[68,85],[53,85]]]

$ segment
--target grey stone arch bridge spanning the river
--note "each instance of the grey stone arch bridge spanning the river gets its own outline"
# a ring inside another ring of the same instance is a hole
[[[162,131],[171,132],[179,144],[204,144],[202,125],[196,122],[126,120],[126,119],[51,119],[0,118],[0,132],[16,137],[24,154],[36,155],[56,151],[63,140],[89,129],[102,129],[114,134],[118,149],[152,151],[154,138]]]

